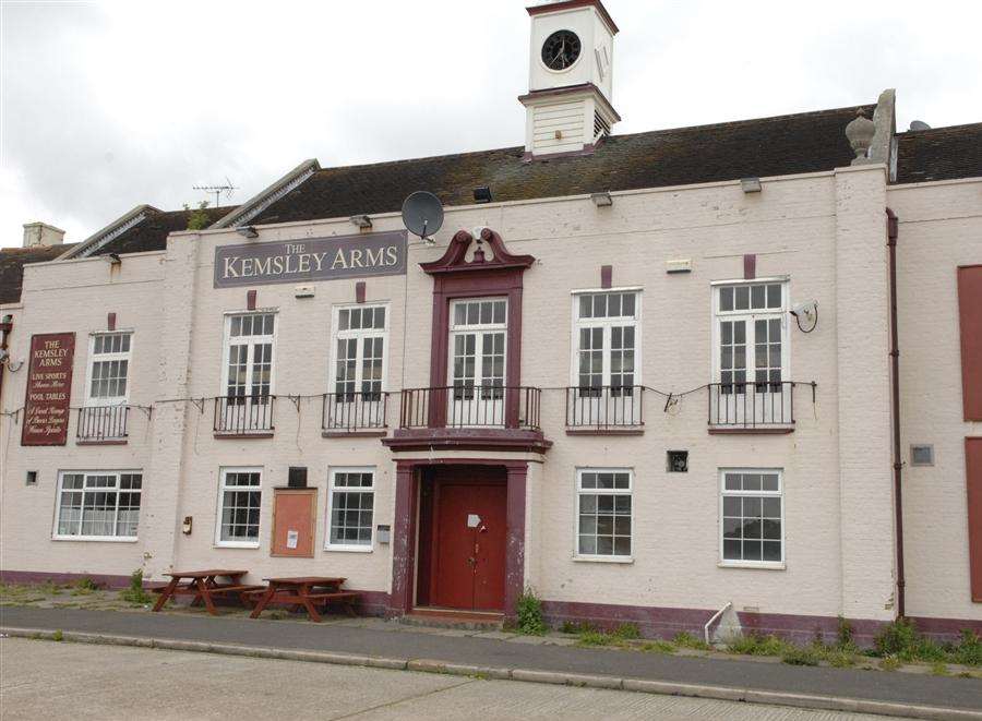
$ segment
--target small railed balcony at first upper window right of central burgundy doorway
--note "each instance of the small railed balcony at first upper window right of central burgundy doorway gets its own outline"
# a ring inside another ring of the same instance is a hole
[[[644,386],[566,388],[567,435],[644,433]]]

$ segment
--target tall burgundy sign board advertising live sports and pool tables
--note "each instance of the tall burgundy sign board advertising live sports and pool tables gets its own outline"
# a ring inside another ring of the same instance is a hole
[[[74,333],[31,336],[21,445],[63,446],[72,400]]]

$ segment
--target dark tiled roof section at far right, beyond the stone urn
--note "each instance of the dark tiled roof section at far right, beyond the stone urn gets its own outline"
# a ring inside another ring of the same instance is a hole
[[[982,122],[897,134],[897,182],[982,177]]]

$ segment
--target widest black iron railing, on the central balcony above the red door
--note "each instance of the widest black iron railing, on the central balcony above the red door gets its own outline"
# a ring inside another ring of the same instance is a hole
[[[538,430],[541,395],[528,386],[407,388],[402,393],[399,426]]]

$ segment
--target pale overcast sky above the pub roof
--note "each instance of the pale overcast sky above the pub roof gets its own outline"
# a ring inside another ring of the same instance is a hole
[[[322,166],[520,145],[520,0],[0,0],[0,245]],[[872,103],[982,121],[982,3],[607,0],[614,133]]]

